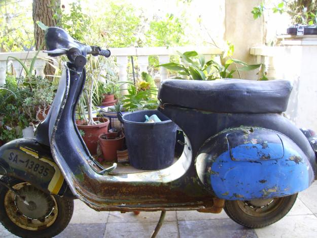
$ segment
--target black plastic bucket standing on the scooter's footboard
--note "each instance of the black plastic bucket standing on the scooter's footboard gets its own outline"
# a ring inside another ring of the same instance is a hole
[[[156,114],[161,122],[145,123],[145,115]],[[176,124],[157,110],[118,112],[124,124],[130,164],[139,169],[161,169],[173,163]]]

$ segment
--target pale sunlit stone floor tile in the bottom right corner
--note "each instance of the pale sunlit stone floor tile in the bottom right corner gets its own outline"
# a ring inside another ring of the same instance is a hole
[[[317,217],[314,215],[286,216],[278,222],[255,229],[259,238],[316,238]]]

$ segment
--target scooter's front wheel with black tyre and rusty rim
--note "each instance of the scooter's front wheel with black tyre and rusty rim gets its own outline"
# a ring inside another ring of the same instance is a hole
[[[68,225],[74,211],[74,201],[47,194],[29,183],[9,179],[15,193],[0,186],[0,222],[20,237],[52,237]]]

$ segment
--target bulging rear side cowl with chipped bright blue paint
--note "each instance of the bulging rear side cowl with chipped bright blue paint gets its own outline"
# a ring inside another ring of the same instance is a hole
[[[196,157],[204,186],[227,200],[295,194],[314,181],[312,166],[288,137],[264,128],[233,128],[208,139]]]

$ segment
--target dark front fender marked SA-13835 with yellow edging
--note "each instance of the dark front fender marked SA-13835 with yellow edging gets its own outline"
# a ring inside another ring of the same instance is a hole
[[[0,175],[21,179],[51,194],[69,195],[50,147],[34,139],[17,139],[0,147]]]

